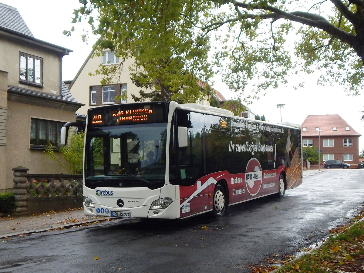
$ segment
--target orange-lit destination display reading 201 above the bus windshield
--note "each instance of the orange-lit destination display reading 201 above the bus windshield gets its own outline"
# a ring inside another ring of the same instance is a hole
[[[103,127],[167,122],[168,104],[163,102],[115,104],[88,110],[88,126]]]

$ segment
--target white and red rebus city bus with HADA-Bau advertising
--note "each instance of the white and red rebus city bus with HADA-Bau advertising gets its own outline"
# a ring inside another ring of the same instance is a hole
[[[65,124],[63,139],[75,124]],[[299,127],[240,118],[221,108],[176,102],[90,108],[84,213],[219,217],[230,205],[283,197],[300,185],[301,158]]]

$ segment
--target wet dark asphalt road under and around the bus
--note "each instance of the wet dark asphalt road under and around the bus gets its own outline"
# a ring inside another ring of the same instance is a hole
[[[281,200],[235,205],[221,219],[116,219],[9,238],[0,244],[0,272],[250,272],[249,264],[318,242],[363,198],[364,169],[327,170]]]

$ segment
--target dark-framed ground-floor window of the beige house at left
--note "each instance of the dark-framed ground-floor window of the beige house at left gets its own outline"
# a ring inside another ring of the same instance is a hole
[[[44,148],[51,142],[52,147],[59,147],[60,132],[64,122],[45,119],[30,120],[30,147]]]

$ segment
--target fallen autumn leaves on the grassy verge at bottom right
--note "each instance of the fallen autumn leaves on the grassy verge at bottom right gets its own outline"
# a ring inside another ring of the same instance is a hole
[[[266,264],[249,265],[248,268],[252,273],[272,272],[277,265],[281,267],[276,273],[364,272],[364,221],[359,221],[363,217],[364,210],[351,223],[331,229],[331,236],[321,240],[323,245],[298,259],[286,257],[280,261],[276,259],[277,254],[272,254],[274,258],[266,258]],[[309,250],[312,249],[301,249]]]

